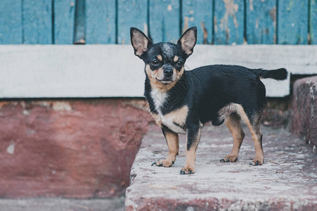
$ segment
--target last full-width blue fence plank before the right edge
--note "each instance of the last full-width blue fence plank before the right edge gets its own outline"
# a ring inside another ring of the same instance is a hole
[[[278,44],[307,44],[309,1],[278,1]]]

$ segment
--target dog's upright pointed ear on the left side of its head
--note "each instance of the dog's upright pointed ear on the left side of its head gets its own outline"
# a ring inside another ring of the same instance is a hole
[[[152,41],[137,28],[130,28],[131,44],[134,48],[134,54],[142,58],[143,54],[148,51],[148,47],[152,45]]]

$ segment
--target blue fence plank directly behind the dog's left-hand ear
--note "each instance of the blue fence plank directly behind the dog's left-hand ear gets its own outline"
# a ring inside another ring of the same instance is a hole
[[[147,0],[117,0],[117,42],[130,43],[130,27],[136,27],[148,34],[148,1]]]

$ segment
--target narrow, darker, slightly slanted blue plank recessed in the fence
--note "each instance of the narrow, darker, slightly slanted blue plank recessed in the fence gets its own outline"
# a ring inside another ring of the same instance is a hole
[[[86,43],[86,32],[85,32],[85,0],[77,0],[75,6],[75,30],[74,30],[74,44],[85,44]]]

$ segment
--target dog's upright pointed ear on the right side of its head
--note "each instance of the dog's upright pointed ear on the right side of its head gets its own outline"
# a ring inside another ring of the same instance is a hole
[[[191,27],[181,35],[177,44],[181,45],[181,49],[190,56],[193,53],[194,46],[197,41],[197,27]]]

